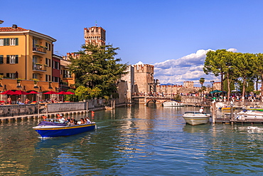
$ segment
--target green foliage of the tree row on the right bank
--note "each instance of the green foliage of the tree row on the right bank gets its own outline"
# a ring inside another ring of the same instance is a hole
[[[221,76],[221,90],[223,83],[227,82],[225,90],[228,92],[228,99],[234,82],[238,84],[244,97],[247,91],[253,90],[253,80],[257,82],[259,79],[262,80],[263,54],[233,53],[226,50],[208,51],[203,71],[206,74]]]

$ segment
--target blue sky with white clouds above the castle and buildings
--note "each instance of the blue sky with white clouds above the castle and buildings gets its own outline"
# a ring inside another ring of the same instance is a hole
[[[83,29],[97,21],[107,31],[106,43],[120,48],[122,63],[153,64],[161,83],[219,81],[202,73],[209,49],[263,50],[259,0],[0,0],[0,6],[1,27],[17,24],[51,36],[55,54],[63,56],[80,50]]]

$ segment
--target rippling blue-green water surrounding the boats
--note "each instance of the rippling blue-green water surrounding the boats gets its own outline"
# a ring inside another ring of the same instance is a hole
[[[1,125],[0,175],[263,175],[262,125],[191,126],[186,110],[198,108],[97,111],[97,130],[60,138]]]

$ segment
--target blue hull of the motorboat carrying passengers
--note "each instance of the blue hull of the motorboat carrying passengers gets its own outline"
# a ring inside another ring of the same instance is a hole
[[[43,138],[54,138],[67,135],[77,135],[89,130],[94,130],[96,123],[69,125],[69,126],[36,126],[33,127]]]

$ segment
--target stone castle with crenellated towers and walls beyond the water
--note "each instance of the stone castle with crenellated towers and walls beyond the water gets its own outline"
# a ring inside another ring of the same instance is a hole
[[[84,38],[86,45],[104,46],[106,31],[97,26],[85,28]],[[70,57],[77,58],[78,54],[67,53],[67,56],[63,56],[63,60],[67,61]],[[185,81],[183,85],[162,86],[159,80],[154,79],[154,66],[141,62],[128,66],[127,74],[118,81],[119,103],[132,103],[134,95],[198,93],[199,89],[193,86],[193,81]]]

